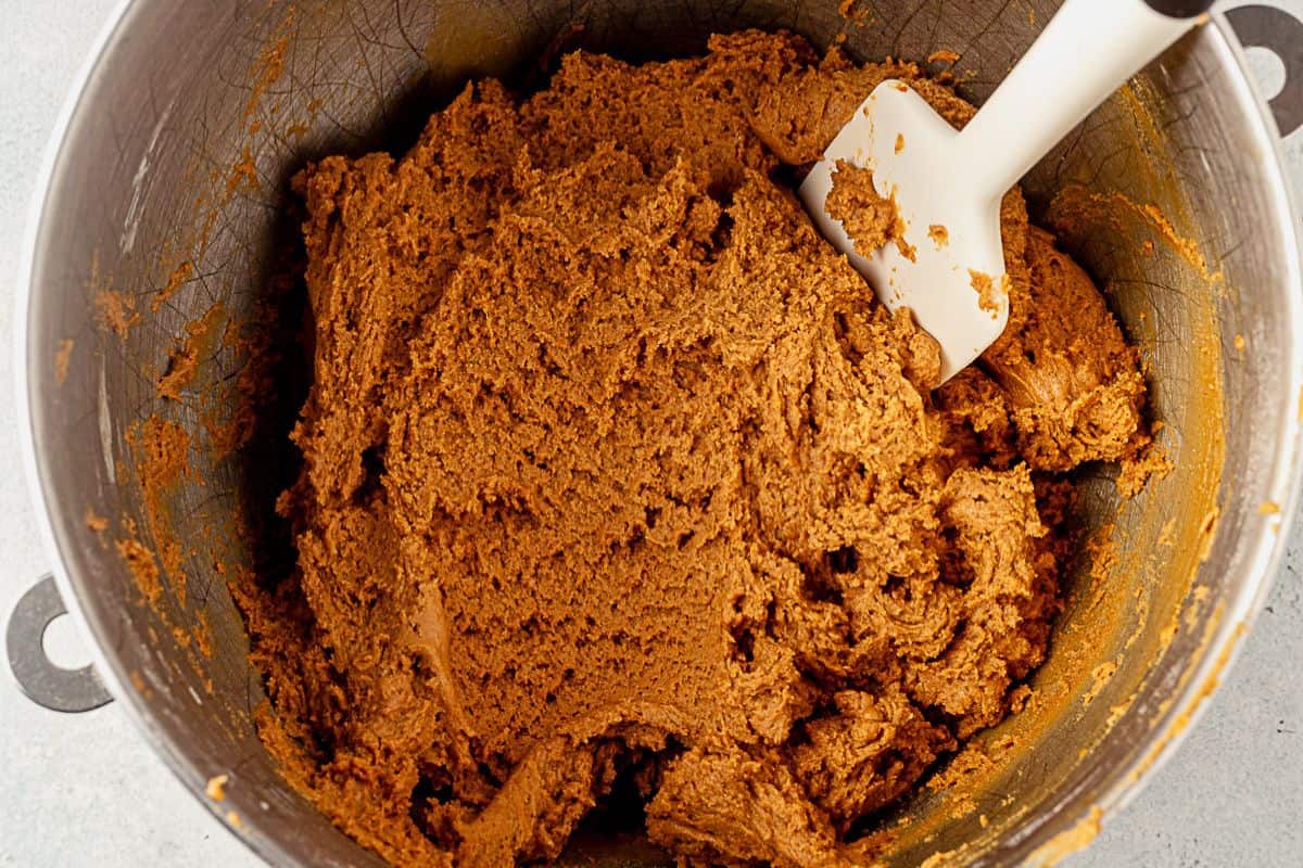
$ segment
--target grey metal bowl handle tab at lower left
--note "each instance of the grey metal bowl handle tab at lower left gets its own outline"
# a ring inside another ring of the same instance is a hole
[[[46,656],[43,645],[46,627],[66,613],[52,575],[46,575],[22,595],[5,630],[9,669],[22,692],[38,705],[56,712],[89,712],[113,699],[95,674],[95,668],[56,666]]]

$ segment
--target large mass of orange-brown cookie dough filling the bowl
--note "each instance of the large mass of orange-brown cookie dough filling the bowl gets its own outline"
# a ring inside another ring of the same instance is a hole
[[[934,389],[780,180],[889,75],[972,112],[743,33],[477,82],[401,159],[297,178],[298,569],[245,605],[263,738],[362,845],[549,859],[623,781],[688,864],[868,863],[873,813],[1009,713],[1063,474],[1145,446],[1145,387],[1015,191],[1009,331]]]

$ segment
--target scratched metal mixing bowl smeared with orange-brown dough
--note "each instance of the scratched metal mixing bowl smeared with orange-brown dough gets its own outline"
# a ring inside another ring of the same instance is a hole
[[[861,60],[956,52],[959,90],[980,100],[1054,5],[877,0],[847,17],[837,0],[133,4],[55,165],[35,251],[29,397],[69,604],[104,677],[185,785],[202,799],[210,777],[228,774],[225,800],[210,806],[275,864],[379,864],[263,751],[253,714],[262,688],[227,586],[237,570],[285,569],[292,557],[255,519],[293,472],[284,433],[304,388],[293,342],[302,294],[272,289],[294,232],[296,170],[328,154],[400,152],[468,78],[529,82],[556,44],[645,60],[701,51],[713,31],[786,27],[818,46],[844,39]],[[908,819],[890,864],[943,851],[1009,864],[1076,841],[1096,809],[1135,791],[1252,612],[1281,521],[1270,502],[1289,498],[1298,414],[1282,397],[1298,368],[1294,234],[1268,137],[1214,23],[1027,180],[1033,213],[1062,226],[1141,347],[1174,470],[1126,502],[1113,470],[1083,474],[1076,521],[1110,540],[1108,554],[1093,567],[1083,556],[1066,579],[1036,700],[979,738],[995,757],[989,768],[954,790],[925,787],[883,819]],[[1074,195],[1057,197],[1063,189]],[[155,308],[172,278],[175,294]],[[138,318],[125,336],[104,327],[115,293],[128,299],[117,314]],[[199,342],[195,376],[179,401],[160,397],[172,353],[205,316],[214,337]],[[235,422],[255,426],[253,442],[228,454],[222,432],[248,355],[222,338],[228,323],[233,334],[268,316],[285,321],[284,363],[255,384],[262,415]],[[152,504],[132,445],[149,416],[190,439],[190,472]],[[87,527],[89,513],[107,531]],[[181,545],[156,605],[115,548],[132,526],[155,552],[160,537]],[[564,859],[668,864],[599,830]]]

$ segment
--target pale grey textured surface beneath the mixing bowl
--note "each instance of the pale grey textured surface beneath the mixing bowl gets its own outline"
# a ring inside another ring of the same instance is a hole
[[[1303,0],[1277,0],[1303,13]],[[0,334],[13,327],[27,200],[59,105],[115,0],[0,0]],[[1235,4],[1239,5],[1239,4]],[[1255,69],[1278,87],[1278,64]],[[1287,143],[1303,190],[1303,131]],[[9,342],[5,341],[5,345]],[[0,617],[48,561],[23,489],[13,359],[0,351]],[[1226,683],[1175,757],[1075,868],[1296,865],[1303,852],[1303,527]],[[56,631],[51,631],[52,634]],[[57,658],[77,664],[60,630]],[[121,711],[43,711],[0,674],[0,865],[259,864],[156,760]]]

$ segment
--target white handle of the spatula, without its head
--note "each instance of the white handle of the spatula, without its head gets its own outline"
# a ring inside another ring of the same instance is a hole
[[[982,193],[998,199],[1209,5],[1066,0],[959,134],[960,159],[972,164],[958,169],[980,176]]]

